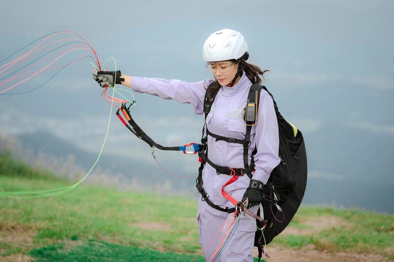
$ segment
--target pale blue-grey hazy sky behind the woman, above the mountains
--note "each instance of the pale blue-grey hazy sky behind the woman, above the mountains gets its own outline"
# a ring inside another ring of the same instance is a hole
[[[201,55],[206,37],[219,29],[236,29],[248,42],[249,61],[271,71],[263,84],[274,94],[282,115],[306,140],[311,138],[307,148],[332,126],[365,132],[371,145],[382,138],[393,145],[393,7],[389,0],[3,1],[0,58],[45,34],[70,30],[86,37],[102,61],[116,58],[123,73],[193,82],[211,77]],[[114,69],[112,62],[108,68]],[[44,129],[98,152],[109,108],[91,71],[83,60],[35,92],[0,96],[1,132]],[[143,94],[136,98],[135,119],[157,142],[199,140],[203,120],[189,105]],[[357,151],[355,144],[344,147],[349,146]],[[150,149],[114,114],[105,150],[150,157]],[[335,147],[330,154],[335,150],[345,149]],[[318,154],[318,149],[313,152]],[[390,148],[381,153],[393,155]],[[172,154],[163,158],[179,162]],[[346,176],[340,169],[320,170],[317,159],[308,155],[311,177]],[[187,170],[195,161],[185,158],[181,165]],[[386,168],[394,185],[393,163]]]

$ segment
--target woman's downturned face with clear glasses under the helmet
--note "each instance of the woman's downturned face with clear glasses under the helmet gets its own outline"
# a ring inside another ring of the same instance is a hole
[[[221,86],[229,85],[238,71],[238,63],[231,60],[208,62],[207,67]]]

